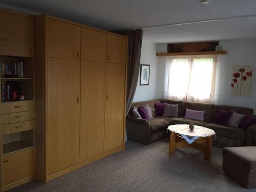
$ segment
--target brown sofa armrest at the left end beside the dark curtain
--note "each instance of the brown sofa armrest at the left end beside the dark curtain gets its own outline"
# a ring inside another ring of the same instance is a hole
[[[127,138],[143,144],[150,143],[150,122],[128,114],[126,116]]]

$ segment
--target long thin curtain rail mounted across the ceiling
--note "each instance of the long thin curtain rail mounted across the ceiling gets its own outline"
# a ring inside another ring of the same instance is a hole
[[[187,24],[217,22],[219,20],[225,20],[225,19],[249,18],[249,17],[256,17],[256,14],[252,14],[252,15],[239,15],[239,16],[232,16],[232,17],[222,17],[222,18],[216,18],[216,19],[196,20],[196,21],[193,21],[193,22],[185,22],[185,23],[173,23],[173,24],[143,26],[143,27],[134,28],[134,29],[145,29],[145,28],[164,27],[164,26],[178,26],[178,25],[187,25]]]

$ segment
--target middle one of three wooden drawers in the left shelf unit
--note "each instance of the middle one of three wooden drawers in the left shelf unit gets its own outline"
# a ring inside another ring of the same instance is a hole
[[[20,113],[11,113],[1,115],[1,122],[3,125],[10,123],[17,123],[22,121],[30,121],[35,119],[35,111],[26,111]]]

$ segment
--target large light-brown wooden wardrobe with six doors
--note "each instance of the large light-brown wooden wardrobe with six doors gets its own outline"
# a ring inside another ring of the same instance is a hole
[[[124,149],[127,37],[35,17],[37,178]]]

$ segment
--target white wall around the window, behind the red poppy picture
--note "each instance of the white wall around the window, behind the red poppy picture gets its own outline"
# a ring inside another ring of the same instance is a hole
[[[219,100],[216,104],[226,104],[234,106],[245,106],[254,109],[256,114],[256,38],[251,39],[230,39],[220,40],[223,50],[227,50],[227,55],[218,56],[218,79],[217,90],[219,92]],[[167,44],[157,44],[157,52],[166,52]],[[164,81],[162,78],[165,74],[165,57],[158,58],[158,97],[163,97]],[[249,97],[231,96],[231,67],[232,65],[252,65],[252,87]],[[161,91],[161,92],[160,92]]]

